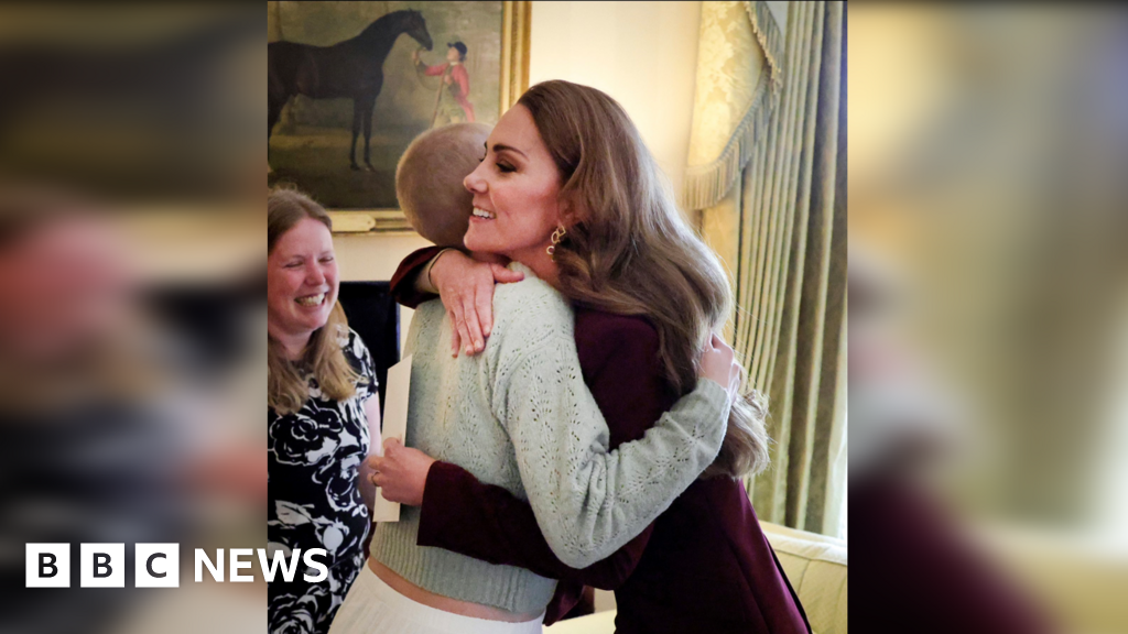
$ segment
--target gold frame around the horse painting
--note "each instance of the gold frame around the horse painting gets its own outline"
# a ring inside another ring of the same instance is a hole
[[[501,112],[504,113],[529,88],[529,34],[532,2],[502,2]],[[334,234],[413,234],[398,209],[329,210]]]

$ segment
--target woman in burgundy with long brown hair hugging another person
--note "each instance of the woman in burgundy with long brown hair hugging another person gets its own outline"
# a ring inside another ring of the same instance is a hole
[[[543,175],[550,173],[553,183]],[[731,310],[716,256],[689,229],[623,108],[607,95],[565,81],[529,89],[487,142],[466,178],[474,214],[470,250],[528,263],[575,308],[584,379],[611,425],[611,444],[641,438],[654,412],[697,384],[697,359]],[[532,218],[552,200],[555,222]],[[528,239],[532,235],[536,239]],[[434,256],[409,256],[397,289]],[[493,274],[458,252],[429,264],[461,342],[482,350],[492,315],[467,299]],[[434,288],[430,289],[434,290]],[[739,477],[767,463],[765,410],[738,399],[714,464],[658,520],[614,556],[585,569],[561,561],[538,516],[509,492],[467,470],[389,444],[376,459],[385,494],[421,504],[421,546],[559,579],[546,623],[575,602],[583,584],[616,590],[617,631],[808,632],[802,607]]]

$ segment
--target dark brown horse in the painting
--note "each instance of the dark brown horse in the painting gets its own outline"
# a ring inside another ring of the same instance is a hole
[[[349,148],[349,162],[356,165],[356,137],[364,125],[364,165],[369,162],[368,146],[372,138],[372,108],[384,86],[384,60],[400,34],[411,35],[428,51],[431,34],[418,11],[405,9],[380,16],[360,35],[332,46],[312,46],[293,42],[274,42],[266,45],[267,58],[267,122],[266,142],[279,121],[282,106],[294,95],[314,99],[349,97],[353,100],[353,140]]]

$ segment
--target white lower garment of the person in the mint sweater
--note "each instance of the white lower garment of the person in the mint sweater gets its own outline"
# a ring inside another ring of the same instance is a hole
[[[540,634],[544,615],[503,623],[443,611],[404,597],[368,565],[349,590],[329,634]]]

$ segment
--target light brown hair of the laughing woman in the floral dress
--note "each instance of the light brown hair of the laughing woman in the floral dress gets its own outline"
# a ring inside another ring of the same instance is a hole
[[[266,196],[266,254],[305,218],[312,218],[333,229],[333,220],[321,205],[289,186],[275,187]],[[302,370],[312,372],[317,385],[327,398],[345,400],[356,393],[356,385],[363,380],[349,364],[338,341],[349,333],[349,322],[341,302],[333,305],[329,319],[314,331],[309,344],[298,361],[291,361],[282,343],[267,335],[266,349],[266,405],[276,413],[292,414],[301,410],[309,399],[309,382]]]

